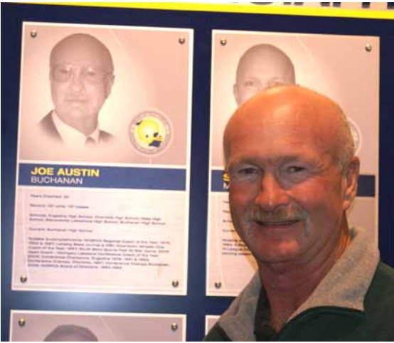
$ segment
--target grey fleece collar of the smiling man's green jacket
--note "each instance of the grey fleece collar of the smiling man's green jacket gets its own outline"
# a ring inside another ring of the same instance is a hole
[[[287,322],[312,307],[364,310],[364,297],[379,262],[379,251],[376,243],[371,243],[371,233],[352,228],[351,238],[351,245]],[[233,341],[255,341],[255,313],[261,287],[260,276],[256,273],[219,318],[220,327]]]

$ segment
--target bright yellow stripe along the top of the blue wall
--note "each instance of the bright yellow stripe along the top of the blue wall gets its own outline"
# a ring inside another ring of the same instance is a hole
[[[286,16],[330,16],[361,19],[394,19],[394,10],[307,8],[302,6],[268,6],[246,4],[191,4],[187,2],[51,2],[45,5],[117,7],[127,9],[166,9],[175,11],[208,11],[249,14],[281,14]]]

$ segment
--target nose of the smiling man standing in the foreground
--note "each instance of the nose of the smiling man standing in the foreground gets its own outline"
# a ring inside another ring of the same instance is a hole
[[[278,207],[289,204],[289,196],[275,176],[263,175],[255,204],[265,211],[275,211]]]

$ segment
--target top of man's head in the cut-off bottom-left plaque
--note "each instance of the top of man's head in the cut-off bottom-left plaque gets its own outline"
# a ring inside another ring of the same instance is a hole
[[[43,342],[98,342],[98,339],[86,327],[66,324],[55,327]]]

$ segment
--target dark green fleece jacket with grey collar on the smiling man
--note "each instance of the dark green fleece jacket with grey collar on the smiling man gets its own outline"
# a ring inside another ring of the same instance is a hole
[[[373,237],[352,242],[273,341],[394,341],[394,270],[379,262]],[[256,274],[206,335],[206,341],[262,340],[255,328],[261,290]]]

